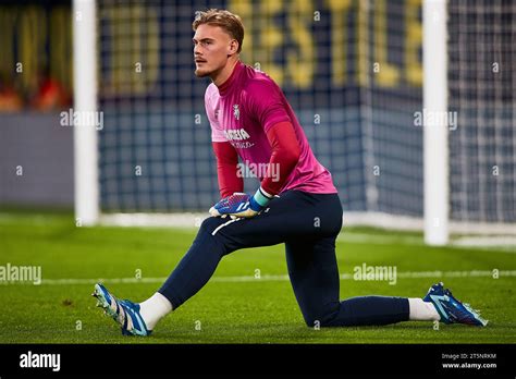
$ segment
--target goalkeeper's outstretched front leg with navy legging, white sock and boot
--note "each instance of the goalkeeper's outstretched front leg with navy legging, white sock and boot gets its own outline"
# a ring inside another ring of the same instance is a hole
[[[244,247],[274,245],[286,239],[314,234],[315,223],[324,225],[317,228],[317,233],[334,234],[335,231],[328,228],[331,224],[328,220],[335,219],[335,215],[330,217],[328,212],[317,210],[325,201],[340,204],[336,195],[315,198],[291,191],[271,201],[268,209],[253,219],[208,218],[186,255],[150,298],[140,304],[120,302],[102,285],[96,286],[94,295],[99,299],[99,306],[122,327],[124,334],[148,335],[160,318],[208,282],[224,255]],[[342,220],[342,213],[336,216]],[[144,322],[139,322],[142,319]]]

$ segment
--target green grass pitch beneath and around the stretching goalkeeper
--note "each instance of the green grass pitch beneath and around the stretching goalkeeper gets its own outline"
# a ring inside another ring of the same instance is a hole
[[[161,321],[150,338],[121,335],[95,307],[95,279],[140,302],[179,262],[195,230],[76,228],[70,213],[0,213],[0,266],[40,266],[42,283],[0,283],[0,343],[515,343],[516,277],[449,274],[516,270],[514,249],[435,248],[417,233],[344,229],[337,243],[341,298],[368,294],[421,297],[444,281],[490,320],[487,328],[431,322],[308,328],[285,280],[283,246],[243,249],[222,259],[213,280]],[[395,266],[398,278],[357,281],[354,267]],[[261,279],[254,279],[259,270]],[[409,272],[443,271],[410,278]],[[142,280],[135,276],[140,273]],[[405,274],[404,274],[405,273]],[[249,277],[250,280],[234,280]],[[113,279],[133,278],[133,282]],[[152,279],[157,278],[157,279]],[[67,284],[58,279],[71,279]],[[137,281],[137,282],[135,282]]]

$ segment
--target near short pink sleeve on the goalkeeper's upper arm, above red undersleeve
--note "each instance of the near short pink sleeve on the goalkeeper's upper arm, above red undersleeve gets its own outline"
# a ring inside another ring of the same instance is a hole
[[[266,133],[280,122],[292,122],[287,112],[288,105],[280,87],[271,78],[253,80],[246,95],[255,118]]]

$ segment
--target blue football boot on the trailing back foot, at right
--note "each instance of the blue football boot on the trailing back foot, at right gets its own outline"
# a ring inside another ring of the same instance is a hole
[[[477,327],[486,327],[488,320],[480,317],[480,311],[472,309],[469,304],[463,304],[455,297],[449,289],[444,289],[443,283],[433,284],[423,302],[432,303],[441,316],[444,323],[466,323]]]

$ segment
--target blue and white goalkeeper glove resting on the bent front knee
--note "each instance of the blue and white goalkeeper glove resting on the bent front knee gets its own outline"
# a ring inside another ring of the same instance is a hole
[[[258,188],[254,196],[235,192],[211,207],[210,215],[214,217],[230,215],[232,218],[250,218],[258,215],[271,199],[272,196],[261,188]]]

